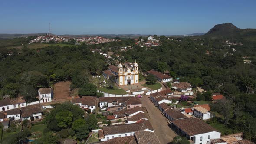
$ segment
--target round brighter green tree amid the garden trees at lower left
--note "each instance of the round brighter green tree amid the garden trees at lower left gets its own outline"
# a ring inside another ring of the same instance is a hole
[[[60,128],[68,128],[69,125],[72,123],[73,115],[68,110],[60,111],[56,114],[55,119],[57,121],[57,125]]]

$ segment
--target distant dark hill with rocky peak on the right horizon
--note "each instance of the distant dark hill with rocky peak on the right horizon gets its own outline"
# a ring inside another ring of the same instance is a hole
[[[215,25],[201,38],[212,39],[234,39],[256,42],[256,29],[240,29],[232,23],[222,23]]]

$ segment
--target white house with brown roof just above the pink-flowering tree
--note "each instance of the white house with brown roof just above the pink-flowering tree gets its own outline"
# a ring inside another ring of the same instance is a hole
[[[192,86],[188,82],[174,83],[172,88],[176,91],[184,93],[184,95],[193,95]]]

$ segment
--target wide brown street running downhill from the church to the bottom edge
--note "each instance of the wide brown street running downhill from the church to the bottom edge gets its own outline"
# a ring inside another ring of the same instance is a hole
[[[151,102],[148,96],[141,99],[142,106],[147,108],[149,121],[154,128],[155,134],[158,136],[161,144],[170,143],[176,136],[174,131],[168,126],[168,123],[157,107]]]

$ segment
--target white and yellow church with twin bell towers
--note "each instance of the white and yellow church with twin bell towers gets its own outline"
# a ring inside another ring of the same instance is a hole
[[[115,77],[115,83],[121,85],[134,85],[139,83],[138,63],[119,62],[118,66],[110,65],[108,70],[102,72],[106,79]]]

